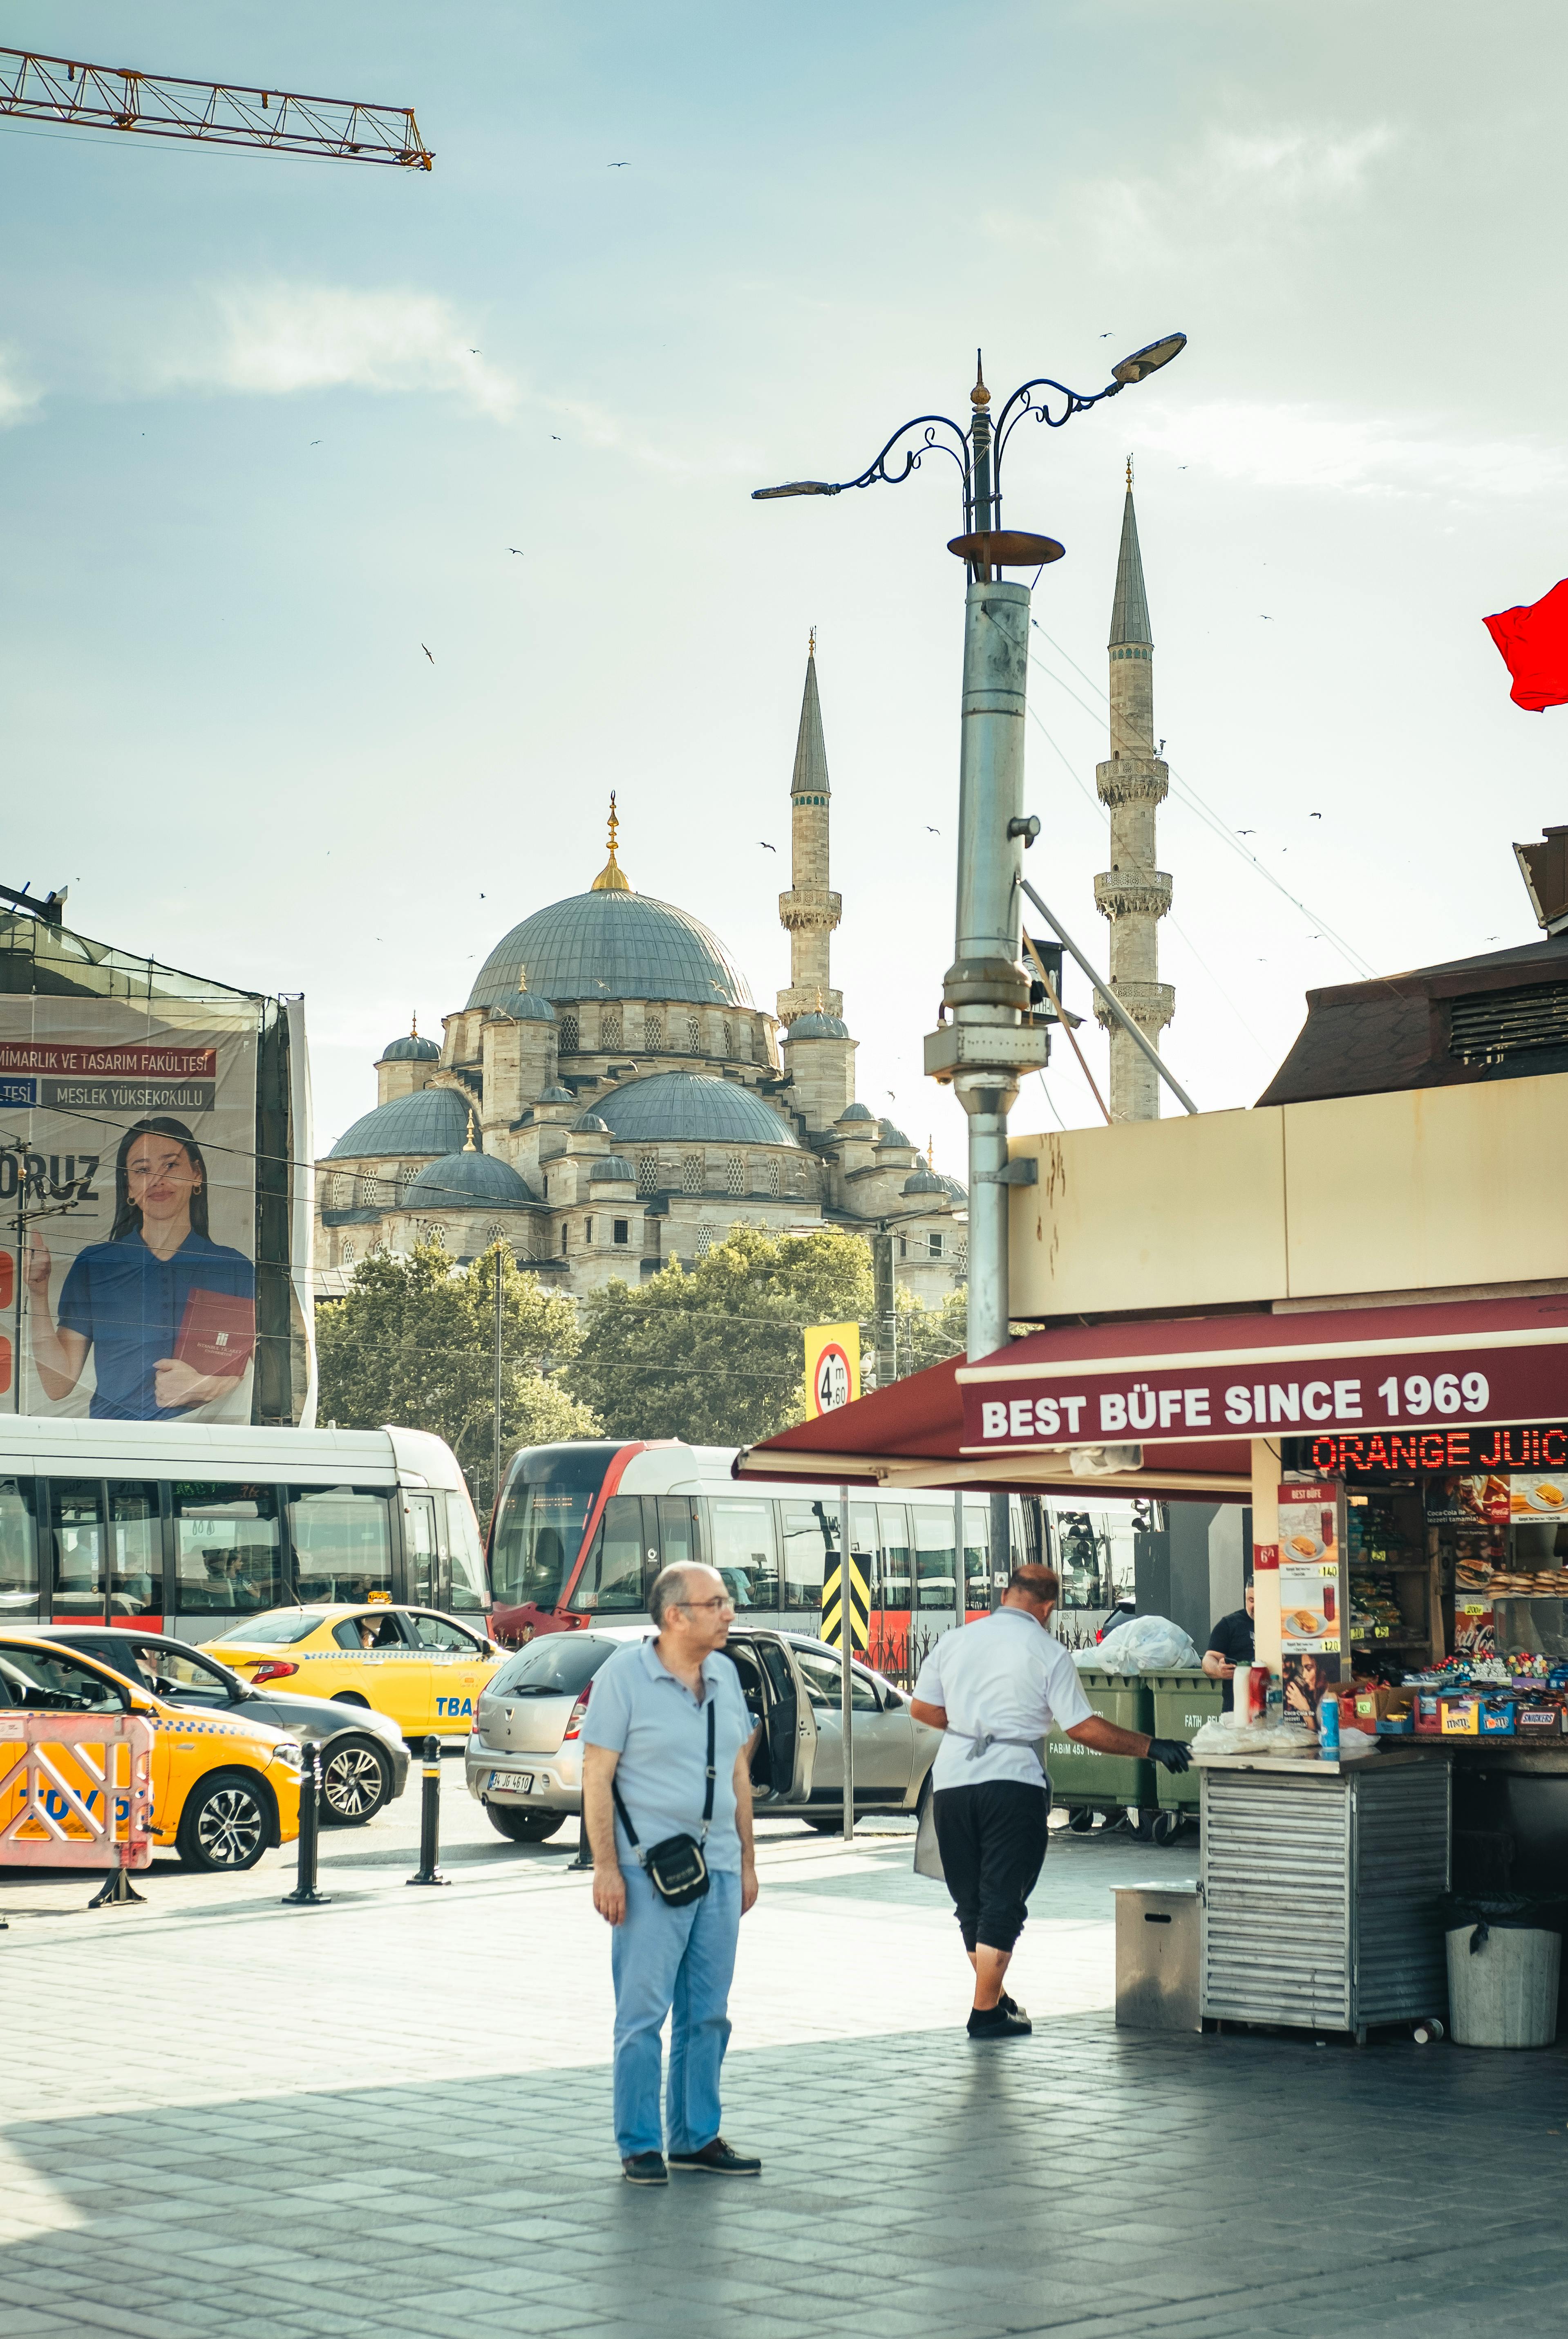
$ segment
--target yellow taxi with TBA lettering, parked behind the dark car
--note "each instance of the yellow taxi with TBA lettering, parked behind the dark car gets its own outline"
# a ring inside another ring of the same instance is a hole
[[[405,1738],[466,1738],[506,1661],[482,1630],[396,1602],[267,1609],[206,1649],[248,1682],[288,1682],[302,1698],[370,1705]]]

